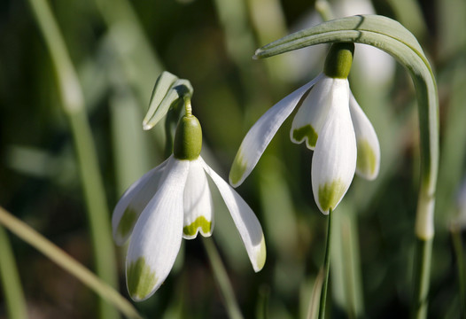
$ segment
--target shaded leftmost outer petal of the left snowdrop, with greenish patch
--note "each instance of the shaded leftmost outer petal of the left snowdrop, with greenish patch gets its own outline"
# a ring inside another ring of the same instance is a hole
[[[160,176],[163,174],[168,160],[151,169],[129,186],[113,209],[113,238],[117,245],[122,245],[127,241],[137,218],[159,189]]]

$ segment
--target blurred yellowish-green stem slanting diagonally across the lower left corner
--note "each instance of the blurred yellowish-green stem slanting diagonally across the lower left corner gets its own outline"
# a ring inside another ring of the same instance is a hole
[[[105,284],[104,281],[89,271],[88,268],[82,266],[81,263],[75,261],[74,258],[58,248],[57,245],[51,243],[1,206],[0,224],[3,224],[4,227],[12,231],[13,234],[24,240],[27,244],[35,247],[35,249],[48,257],[50,261],[55,262],[59,267],[64,268],[71,275],[75,276],[82,284],[86,284],[94,292],[97,292],[100,297],[118,308],[121,314],[126,315],[128,318],[141,318],[131,303],[123,298],[120,293],[116,292],[109,284]],[[22,316],[21,318],[26,318],[26,316]]]

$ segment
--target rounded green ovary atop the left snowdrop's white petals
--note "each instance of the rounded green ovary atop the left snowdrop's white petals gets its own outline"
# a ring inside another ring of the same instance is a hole
[[[202,148],[202,129],[194,115],[185,115],[178,122],[173,153],[176,159],[197,159]]]

